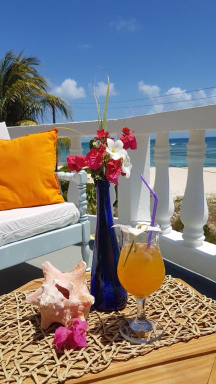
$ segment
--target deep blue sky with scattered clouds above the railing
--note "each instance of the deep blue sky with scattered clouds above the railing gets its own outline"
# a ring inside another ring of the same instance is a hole
[[[106,81],[100,65],[112,83],[108,118],[216,103],[189,101],[216,88],[168,96],[216,86],[215,16],[214,0],[7,0],[0,56],[24,49],[40,57],[50,90],[71,103],[74,121],[97,118],[92,86],[96,77],[102,106]],[[142,97],[149,99],[111,103]],[[155,105],[168,101],[183,102]],[[129,108],[144,104],[153,105]]]

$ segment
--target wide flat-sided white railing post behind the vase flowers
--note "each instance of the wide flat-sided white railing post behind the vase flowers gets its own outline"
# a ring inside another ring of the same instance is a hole
[[[136,134],[137,149],[128,149],[132,169],[129,178],[119,176],[118,221],[149,220],[149,192],[140,174],[149,181],[149,135]]]

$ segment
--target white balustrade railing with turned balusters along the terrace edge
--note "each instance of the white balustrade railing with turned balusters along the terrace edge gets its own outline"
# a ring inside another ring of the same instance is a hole
[[[96,121],[43,124],[9,127],[11,138],[40,132],[58,126],[59,136],[70,137],[71,154],[81,154],[81,134],[94,136]],[[155,133],[155,181],[158,195],[156,220],[161,224],[160,247],[163,257],[216,280],[216,245],[203,241],[203,225],[207,221],[207,205],[203,189],[203,161],[205,152],[203,129],[216,129],[216,105],[200,106],[161,112],[125,119],[108,120],[110,134],[121,134],[123,126],[135,130],[137,150],[129,151],[132,171],[129,179],[121,177],[118,186],[118,218],[115,221],[149,219],[149,193],[139,179],[139,174],[149,180],[150,151],[149,134]],[[72,128],[72,130],[64,129]],[[171,229],[170,217],[173,200],[169,184],[168,132],[189,131],[187,145],[188,174],[180,218],[184,224],[183,234]],[[216,185],[215,185],[216,189]],[[76,190],[69,186],[68,199],[76,201]],[[114,188],[110,190],[114,202]],[[152,207],[152,202],[151,202]],[[91,231],[95,228],[95,216],[89,215]]]

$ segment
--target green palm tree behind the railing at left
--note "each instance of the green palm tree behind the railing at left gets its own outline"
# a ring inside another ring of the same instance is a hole
[[[7,126],[38,124],[50,115],[55,123],[56,112],[72,119],[71,105],[47,92],[48,82],[40,75],[39,65],[38,57],[22,57],[22,51],[16,56],[10,50],[0,59],[0,121]],[[57,140],[56,168],[61,145],[69,148],[70,140]]]

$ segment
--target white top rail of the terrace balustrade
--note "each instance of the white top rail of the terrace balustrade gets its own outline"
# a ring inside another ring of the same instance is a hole
[[[193,108],[172,110],[128,118],[108,120],[109,132],[120,133],[123,126],[135,129],[137,134],[157,133],[157,132],[178,132],[200,129],[216,129],[216,105],[204,105]],[[72,128],[87,136],[94,136],[97,128],[97,121],[78,121],[56,124],[40,124],[28,126],[8,127],[11,138],[24,136],[28,133],[41,132],[52,129],[55,126]],[[59,136],[81,136],[80,133],[60,129]]]

